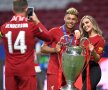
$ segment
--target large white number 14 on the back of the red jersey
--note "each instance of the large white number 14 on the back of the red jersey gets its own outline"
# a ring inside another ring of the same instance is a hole
[[[25,44],[25,32],[24,31],[20,31],[15,43],[14,43],[14,47],[12,47],[12,32],[9,31],[5,37],[7,38],[8,41],[8,50],[9,53],[13,53],[13,49],[14,50],[20,50],[21,54],[24,54],[26,52],[27,46]]]

